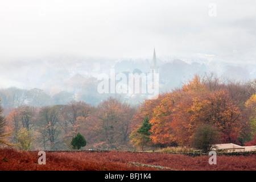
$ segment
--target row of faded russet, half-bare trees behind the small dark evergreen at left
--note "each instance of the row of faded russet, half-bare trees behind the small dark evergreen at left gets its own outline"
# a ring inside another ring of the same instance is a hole
[[[72,137],[81,133],[90,148],[129,146],[130,119],[136,109],[117,98],[97,107],[83,101],[44,107],[19,106],[6,117],[9,143],[21,150],[69,149]]]

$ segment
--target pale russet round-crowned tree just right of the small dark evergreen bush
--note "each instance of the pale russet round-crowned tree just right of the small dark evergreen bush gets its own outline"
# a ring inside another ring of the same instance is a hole
[[[127,145],[130,135],[131,119],[135,110],[117,98],[102,101],[90,117],[98,143],[104,148],[116,148]]]

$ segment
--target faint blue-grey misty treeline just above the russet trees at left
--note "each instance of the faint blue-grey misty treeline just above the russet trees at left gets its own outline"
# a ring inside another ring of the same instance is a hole
[[[128,74],[129,72],[124,72]],[[115,97],[114,93],[98,93],[97,86],[101,82],[97,78],[84,78],[80,75],[72,77],[69,81],[69,87],[65,91],[60,91],[52,95],[47,94],[42,89],[20,89],[10,87],[0,89],[1,105],[6,110],[11,110],[19,106],[43,107],[48,105],[67,105],[69,101],[79,100],[90,105],[98,105],[102,100],[108,97]],[[72,88],[72,89],[70,89]],[[136,104],[138,100],[143,100],[145,96],[130,97],[127,99],[126,94],[119,95],[122,100]]]

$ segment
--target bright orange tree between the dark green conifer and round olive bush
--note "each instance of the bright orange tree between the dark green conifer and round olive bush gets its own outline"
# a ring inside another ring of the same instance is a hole
[[[152,142],[162,146],[189,144],[193,133],[191,125],[193,98],[203,97],[207,89],[201,78],[195,76],[184,84],[181,90],[166,94],[160,104],[155,107],[150,122],[152,123]]]

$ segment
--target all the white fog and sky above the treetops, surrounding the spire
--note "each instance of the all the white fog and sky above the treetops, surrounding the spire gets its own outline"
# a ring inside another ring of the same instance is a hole
[[[252,0],[0,0],[2,105],[18,105],[6,104],[13,87],[46,94],[42,105],[119,97],[98,93],[97,77],[110,69],[150,73],[154,48],[159,92],[195,74],[253,80],[255,5]],[[138,104],[144,96],[121,98]]]

